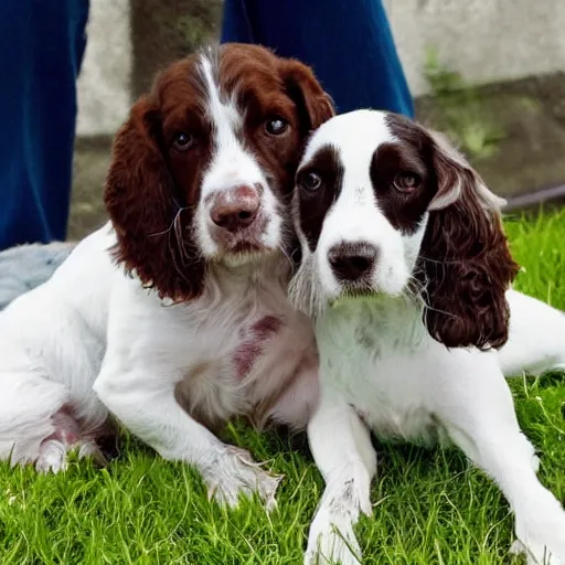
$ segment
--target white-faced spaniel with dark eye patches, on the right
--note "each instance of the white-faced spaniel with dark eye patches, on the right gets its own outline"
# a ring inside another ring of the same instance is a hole
[[[518,266],[500,205],[441,137],[399,116],[354,111],[310,139],[297,173],[302,253],[289,290],[316,319],[320,355],[308,435],[327,487],[307,564],[358,563],[352,526],[371,514],[376,471],[370,430],[458,446],[509,500],[514,550],[530,564],[564,563],[565,513],[536,478],[502,371],[563,364],[565,317],[508,290]],[[507,299],[515,333],[497,353]]]

